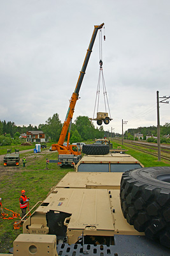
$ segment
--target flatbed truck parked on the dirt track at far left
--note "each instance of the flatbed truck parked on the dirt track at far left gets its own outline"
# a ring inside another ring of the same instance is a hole
[[[15,148],[15,152],[11,152],[11,149],[7,149],[7,154],[4,156],[4,166],[16,165],[20,163],[20,153],[19,150]]]

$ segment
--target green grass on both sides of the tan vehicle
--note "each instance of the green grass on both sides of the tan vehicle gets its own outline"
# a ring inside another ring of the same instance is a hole
[[[113,142],[113,148],[117,148],[118,146],[121,145]],[[41,153],[34,154],[33,148],[34,147],[32,147],[31,152],[20,154],[20,159],[22,159],[23,156],[27,159],[25,168],[22,167],[22,163],[20,163],[18,167],[13,166],[7,169],[2,164],[0,166],[0,197],[2,198],[3,207],[18,213],[21,213],[19,197],[22,189],[25,189],[26,195],[31,198],[29,204],[30,208],[32,208],[38,201],[46,198],[50,189],[55,186],[67,172],[74,171],[71,167],[60,168],[55,163],[48,164],[49,169],[46,170],[46,157],[48,157],[48,159],[57,159],[57,152],[46,155],[42,153],[49,149],[43,149]],[[131,154],[131,156],[138,159],[145,167],[170,165],[167,161],[158,162],[157,157],[149,156],[138,150],[133,150],[128,147],[123,148],[128,149],[127,154]],[[28,146],[26,148],[24,147],[22,150],[25,149],[29,149]],[[0,154],[2,154],[1,152],[0,149]],[[9,213],[9,216],[11,216],[10,212],[6,210],[4,212]],[[0,253],[8,253],[8,249],[13,246],[15,238],[18,234],[22,233],[22,228],[20,228],[20,230],[13,229],[13,223],[15,221],[16,220],[3,220],[0,218]]]

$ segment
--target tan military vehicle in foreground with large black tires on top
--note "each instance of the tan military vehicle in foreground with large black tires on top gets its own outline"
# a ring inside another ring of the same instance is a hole
[[[97,154],[85,154],[24,221],[13,255],[169,255],[170,168],[85,146]]]

